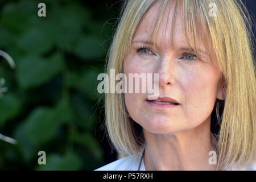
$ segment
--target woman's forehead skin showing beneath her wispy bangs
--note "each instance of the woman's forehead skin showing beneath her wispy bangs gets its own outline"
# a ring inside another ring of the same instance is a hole
[[[158,26],[159,14],[162,9],[162,1],[156,1],[150,9],[144,14],[134,35],[133,42],[146,41],[154,42],[154,30]],[[168,1],[164,9],[161,22],[159,24],[155,45],[162,48],[188,47],[187,39],[183,26],[183,14],[181,6],[177,5],[175,14],[175,1]],[[175,16],[174,16],[175,15]],[[191,36],[188,36],[189,42],[192,42]],[[190,44],[191,47],[192,44]],[[205,52],[203,44],[197,40],[197,48]]]

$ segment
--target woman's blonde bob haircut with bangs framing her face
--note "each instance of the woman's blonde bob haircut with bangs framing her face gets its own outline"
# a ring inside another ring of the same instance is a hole
[[[178,10],[183,14],[183,27],[189,48],[196,42],[213,46],[217,64],[225,83],[225,100],[220,106],[220,121],[216,111],[211,115],[211,131],[218,134],[217,168],[247,167],[256,156],[256,80],[252,20],[242,0],[171,0],[175,20]],[[108,52],[106,73],[115,69],[123,73],[123,60],[131,46],[134,32],[155,0],[129,0],[122,9],[117,30]],[[157,22],[153,24],[156,36],[168,0],[162,0]],[[209,16],[209,5],[216,5],[216,16]],[[174,27],[172,21],[171,27]],[[189,34],[189,32],[191,32]],[[153,35],[153,33],[152,33]],[[192,43],[189,42],[192,38]],[[192,51],[192,50],[191,50]],[[110,85],[109,85],[110,86]],[[216,106],[214,106],[216,108]],[[142,127],[129,117],[124,94],[105,95],[105,125],[108,137],[119,154],[138,154],[144,144]]]

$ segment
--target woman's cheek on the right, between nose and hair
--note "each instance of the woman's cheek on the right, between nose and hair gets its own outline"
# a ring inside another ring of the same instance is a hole
[[[212,113],[216,100],[219,72],[197,69],[180,77],[185,98],[185,115],[193,121],[204,121]],[[200,118],[198,118],[200,117]]]

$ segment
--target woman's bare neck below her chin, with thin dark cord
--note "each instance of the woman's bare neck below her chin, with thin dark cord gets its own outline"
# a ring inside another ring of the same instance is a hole
[[[155,134],[143,129],[146,140],[144,166],[146,170],[215,170],[209,164],[209,151],[216,140],[210,133],[210,122],[175,134]]]

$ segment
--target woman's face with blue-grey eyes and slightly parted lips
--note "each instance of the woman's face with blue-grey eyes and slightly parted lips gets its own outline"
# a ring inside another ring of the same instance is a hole
[[[171,47],[169,19],[172,10],[166,11],[153,45],[148,43],[152,23],[158,9],[156,5],[143,17],[133,36],[131,49],[123,62],[123,69],[129,82],[128,73],[158,73],[159,97],[174,98],[179,105],[158,105],[148,101],[147,93],[126,93],[125,104],[130,117],[143,129],[152,133],[176,133],[193,129],[209,121],[216,97],[222,98],[221,72],[216,61],[210,62],[206,48],[199,44],[200,59],[187,53],[187,41],[177,12],[174,29],[174,45]],[[212,56],[216,56],[211,49]],[[162,103],[162,102],[161,102]],[[163,107],[165,106],[165,107]]]

